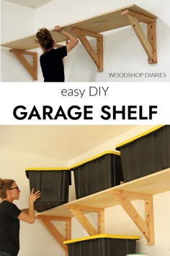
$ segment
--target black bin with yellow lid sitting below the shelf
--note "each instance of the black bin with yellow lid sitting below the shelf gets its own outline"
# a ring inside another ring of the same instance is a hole
[[[99,234],[65,241],[68,256],[125,256],[135,253],[139,236]]]

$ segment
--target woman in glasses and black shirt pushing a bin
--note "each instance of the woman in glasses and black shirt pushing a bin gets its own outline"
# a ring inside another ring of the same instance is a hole
[[[40,197],[40,191],[29,197],[29,210],[25,213],[14,205],[19,200],[19,187],[13,179],[0,179],[0,256],[17,256],[19,252],[19,221],[34,223],[34,202]]]

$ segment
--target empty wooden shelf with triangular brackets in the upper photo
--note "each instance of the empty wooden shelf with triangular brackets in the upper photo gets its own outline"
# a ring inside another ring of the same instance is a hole
[[[104,14],[91,17],[86,20],[81,20],[80,22],[74,22],[69,25],[62,26],[64,30],[68,33],[73,34],[83,44],[88,52],[91,59],[96,64],[98,71],[103,71],[103,35],[108,30],[114,30],[120,27],[126,27],[131,25],[135,31],[140,43],[142,44],[146,54],[148,55],[148,63],[157,63],[156,54],[156,16],[147,12],[135,4],[131,4],[127,7],[122,7],[120,9],[115,9],[111,12],[106,12]],[[140,22],[144,22],[148,27],[148,35],[145,35]],[[56,33],[50,30],[55,43],[61,43],[66,40],[66,38],[60,33]],[[87,37],[96,38],[97,49],[91,46],[91,43]],[[27,38],[21,38],[18,40],[13,40],[7,43],[2,43],[1,46],[14,49],[14,54],[17,54],[17,58],[24,64],[24,67],[28,66],[22,57],[27,54],[28,50],[33,48],[38,48],[36,43],[35,35],[30,35]],[[133,51],[133,49],[132,49]],[[36,53],[32,53],[33,58],[35,58]],[[34,59],[34,67],[32,67],[31,72],[33,80],[37,79],[37,61]],[[26,67],[27,68],[27,67]],[[30,69],[30,67],[29,67]],[[27,69],[28,70],[28,69]]]

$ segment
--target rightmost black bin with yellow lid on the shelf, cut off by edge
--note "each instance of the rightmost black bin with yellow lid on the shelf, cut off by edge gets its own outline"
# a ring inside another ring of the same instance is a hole
[[[125,182],[170,167],[170,125],[159,125],[116,146]]]

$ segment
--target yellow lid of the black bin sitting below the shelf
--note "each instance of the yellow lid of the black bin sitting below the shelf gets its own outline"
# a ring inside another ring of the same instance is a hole
[[[99,239],[99,238],[139,240],[140,236],[126,236],[126,235],[120,235],[120,234],[98,234],[98,235],[94,235],[94,236],[81,237],[79,239],[67,240],[67,241],[64,241],[63,244],[71,244],[71,243],[76,243],[76,242],[81,242],[81,241],[86,241],[86,240],[91,240],[91,239]]]

